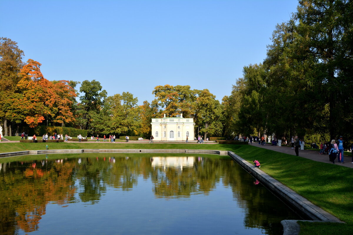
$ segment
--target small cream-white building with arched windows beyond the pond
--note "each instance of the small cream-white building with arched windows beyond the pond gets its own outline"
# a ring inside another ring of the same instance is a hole
[[[152,118],[152,135],[154,140],[160,141],[186,141],[186,136],[189,140],[194,140],[195,123],[192,118],[166,117]]]

